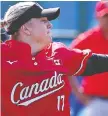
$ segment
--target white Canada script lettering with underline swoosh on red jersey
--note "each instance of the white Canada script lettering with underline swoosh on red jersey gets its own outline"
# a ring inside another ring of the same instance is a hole
[[[63,76],[63,74],[57,75],[57,72],[55,71],[54,76],[52,76],[51,78],[47,78],[45,80],[42,80],[42,82],[32,84],[31,86],[23,87],[23,89],[19,93],[20,98],[15,101],[16,89],[18,89],[18,87],[23,86],[22,82],[16,83],[16,85],[13,87],[12,92],[11,92],[12,103],[17,104],[17,105],[27,106],[34,101],[42,99],[42,98],[60,90],[65,85],[65,82],[62,79],[62,76]],[[48,90],[50,90],[50,91],[48,91]],[[43,93],[45,91],[46,91],[46,93]],[[36,96],[36,97],[32,98],[32,95],[38,95],[39,93],[43,93],[43,94],[41,94],[40,96]],[[25,99],[27,99],[27,98],[30,98],[30,99],[25,101]],[[24,100],[24,102],[19,103],[23,100]]]

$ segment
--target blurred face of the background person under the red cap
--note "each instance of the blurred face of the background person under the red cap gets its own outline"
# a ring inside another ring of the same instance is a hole
[[[108,14],[104,15],[103,17],[98,18],[99,24],[100,26],[105,29],[108,30]]]

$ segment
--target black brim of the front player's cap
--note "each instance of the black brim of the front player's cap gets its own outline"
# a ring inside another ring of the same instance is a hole
[[[42,17],[47,17],[48,20],[54,20],[56,19],[60,14],[60,8],[49,8],[49,9],[43,9],[41,12]]]

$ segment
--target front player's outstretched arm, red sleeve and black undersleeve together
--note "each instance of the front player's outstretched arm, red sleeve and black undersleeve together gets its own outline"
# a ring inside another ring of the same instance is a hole
[[[62,49],[62,52],[66,54],[62,57],[69,76],[90,76],[108,72],[108,55],[95,54],[89,49]]]

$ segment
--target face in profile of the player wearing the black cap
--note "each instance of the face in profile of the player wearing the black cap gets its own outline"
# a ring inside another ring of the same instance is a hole
[[[52,24],[47,20],[46,17],[31,19],[30,33],[32,41],[44,45],[51,43],[52,42],[51,28]]]

